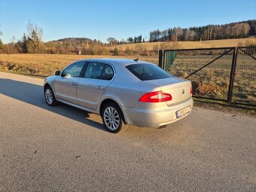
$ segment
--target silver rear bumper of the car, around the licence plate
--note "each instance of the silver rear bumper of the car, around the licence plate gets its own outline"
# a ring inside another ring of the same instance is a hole
[[[181,120],[183,117],[186,117],[187,114],[177,118],[175,113],[176,111],[182,108],[186,108],[187,106],[190,106],[191,111],[193,107],[192,97],[178,105],[173,105],[171,107],[166,106],[165,108],[157,108],[154,110],[138,107],[123,107],[123,113],[126,119],[126,123],[130,125],[157,128],[159,126],[173,123],[176,120]],[[190,112],[188,114],[190,114]]]

